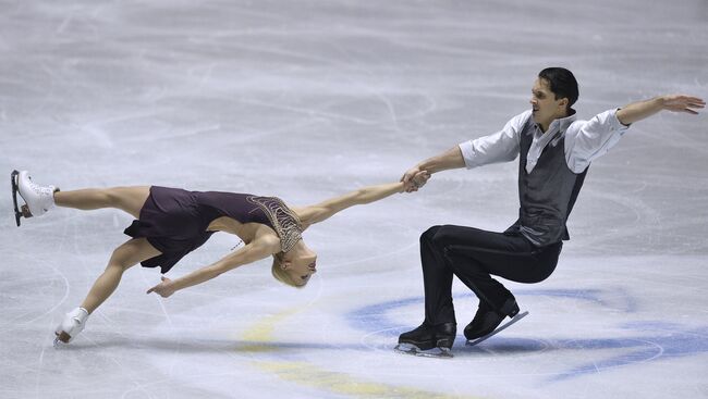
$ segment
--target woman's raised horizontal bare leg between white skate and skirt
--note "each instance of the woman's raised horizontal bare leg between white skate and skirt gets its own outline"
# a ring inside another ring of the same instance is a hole
[[[118,208],[133,217],[139,217],[141,208],[150,195],[149,186],[87,188],[73,191],[54,192],[54,203],[58,207],[93,210],[101,208]]]

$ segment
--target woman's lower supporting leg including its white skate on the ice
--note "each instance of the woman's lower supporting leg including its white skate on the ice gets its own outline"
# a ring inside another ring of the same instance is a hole
[[[138,262],[159,255],[161,252],[145,238],[134,238],[115,248],[108,266],[98,276],[80,308],[66,313],[57,327],[57,340],[70,342],[84,329],[88,315],[113,294],[123,273]]]

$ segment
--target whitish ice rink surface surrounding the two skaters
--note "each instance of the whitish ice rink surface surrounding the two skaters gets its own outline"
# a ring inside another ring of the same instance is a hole
[[[708,2],[0,1],[0,171],[64,190],[166,185],[309,204],[398,180],[500,129],[546,66],[578,117],[708,98]],[[54,209],[15,227],[0,196],[1,398],[708,398],[708,116],[635,124],[593,164],[556,273],[508,283],[530,315],[478,347],[454,286],[452,359],[393,352],[423,321],[418,236],[502,230],[517,161],[305,232],[308,287],[263,261],[162,299],[130,270],[69,347],[53,328],[132,217]],[[237,242],[217,234],[169,274]],[[503,282],[503,280],[502,280]]]

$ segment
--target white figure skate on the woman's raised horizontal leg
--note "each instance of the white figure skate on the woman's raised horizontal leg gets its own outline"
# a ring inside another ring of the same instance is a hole
[[[15,222],[20,226],[20,217],[40,216],[54,207],[54,192],[59,188],[54,186],[39,186],[32,180],[27,171],[12,171],[10,175],[12,184],[12,201],[15,204]],[[17,194],[25,201],[25,204],[17,208]]]

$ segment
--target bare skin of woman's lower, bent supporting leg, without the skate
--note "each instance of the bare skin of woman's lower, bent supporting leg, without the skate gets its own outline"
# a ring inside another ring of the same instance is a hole
[[[61,191],[60,191],[61,192]],[[130,212],[129,212],[130,213]],[[98,276],[96,283],[88,291],[81,307],[93,313],[108,297],[113,294],[121,282],[123,272],[138,262],[159,255],[161,252],[150,245],[145,238],[131,239],[115,248],[108,266]]]

